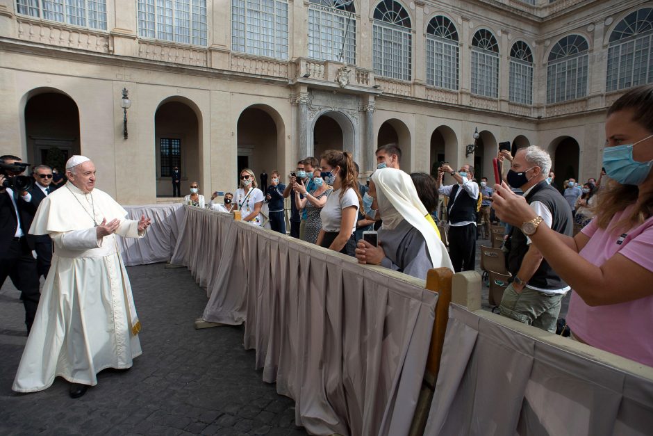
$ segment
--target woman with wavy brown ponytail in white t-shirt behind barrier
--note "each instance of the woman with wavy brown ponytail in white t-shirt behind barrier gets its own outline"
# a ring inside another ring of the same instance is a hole
[[[361,195],[358,193],[358,172],[352,154],[338,150],[322,153],[320,165],[322,171],[328,172],[324,181],[333,186],[333,192],[324,204],[320,218],[322,230],[317,236],[317,245],[329,250],[339,251],[345,255],[356,255],[356,218],[361,207]]]

